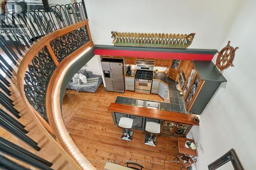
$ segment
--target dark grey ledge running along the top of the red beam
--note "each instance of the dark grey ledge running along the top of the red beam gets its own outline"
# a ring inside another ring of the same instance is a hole
[[[160,47],[136,47],[136,46],[115,46],[95,44],[95,49],[109,50],[128,50],[128,51],[149,51],[149,52],[167,52],[167,53],[192,53],[192,54],[211,54],[215,55],[216,49],[199,49],[199,48],[160,48]]]

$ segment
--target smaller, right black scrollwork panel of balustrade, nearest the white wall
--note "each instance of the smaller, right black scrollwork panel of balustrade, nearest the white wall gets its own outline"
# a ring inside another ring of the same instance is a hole
[[[51,47],[60,63],[68,55],[76,51],[79,47],[89,41],[89,35],[86,26],[74,30],[68,34],[62,35],[51,41]]]

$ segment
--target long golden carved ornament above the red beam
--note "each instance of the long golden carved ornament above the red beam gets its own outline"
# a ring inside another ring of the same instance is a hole
[[[187,48],[193,41],[191,34],[160,34],[160,33],[118,33],[111,32],[114,45]]]

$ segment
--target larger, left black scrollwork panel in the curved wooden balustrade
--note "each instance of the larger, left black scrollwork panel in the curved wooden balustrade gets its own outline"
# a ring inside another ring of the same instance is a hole
[[[50,78],[56,66],[44,46],[31,60],[24,78],[24,92],[29,103],[49,123],[45,98]]]

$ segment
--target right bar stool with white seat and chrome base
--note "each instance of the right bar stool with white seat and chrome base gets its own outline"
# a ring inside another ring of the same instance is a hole
[[[145,130],[147,132],[151,133],[150,135],[146,134],[146,136],[145,136],[145,144],[151,145],[153,147],[156,147],[156,145],[157,145],[157,137],[155,135],[153,135],[153,133],[155,133],[155,134],[159,134],[160,133],[160,124],[155,123],[155,122],[146,122]]]

